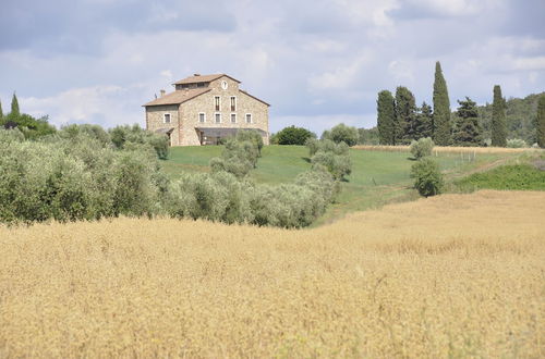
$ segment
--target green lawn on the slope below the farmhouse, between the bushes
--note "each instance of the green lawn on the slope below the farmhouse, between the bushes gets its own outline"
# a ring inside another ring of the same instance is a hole
[[[174,147],[164,169],[174,180],[180,173],[208,172],[209,160],[219,156],[221,146]],[[257,184],[279,184],[293,181],[311,168],[308,150],[303,146],[266,146],[251,177]],[[320,225],[346,213],[377,208],[391,201],[417,198],[409,177],[414,161],[409,152],[364,151],[352,149],[352,174],[342,183],[336,203],[314,224]],[[448,177],[459,177],[481,166],[512,157],[512,154],[477,154],[476,159],[462,159],[457,153],[437,157]]]

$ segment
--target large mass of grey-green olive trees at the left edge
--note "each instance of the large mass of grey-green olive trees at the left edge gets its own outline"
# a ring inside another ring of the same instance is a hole
[[[117,151],[83,133],[39,141],[4,137],[2,133],[0,222],[95,220],[160,211],[165,177],[153,150]]]

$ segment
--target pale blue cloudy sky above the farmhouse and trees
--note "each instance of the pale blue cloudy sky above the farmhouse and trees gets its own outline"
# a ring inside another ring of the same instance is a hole
[[[145,124],[143,103],[226,73],[270,103],[269,126],[376,124],[377,92],[450,103],[545,90],[543,0],[2,0],[0,100],[56,126]]]

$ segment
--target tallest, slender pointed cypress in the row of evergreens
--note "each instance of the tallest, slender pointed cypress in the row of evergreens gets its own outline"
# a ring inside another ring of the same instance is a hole
[[[440,146],[449,145],[451,127],[447,82],[443,76],[441,64],[437,61],[434,82],[434,141]]]

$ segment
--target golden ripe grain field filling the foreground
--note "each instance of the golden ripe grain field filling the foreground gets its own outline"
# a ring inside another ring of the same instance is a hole
[[[0,228],[0,357],[545,356],[545,193]]]

